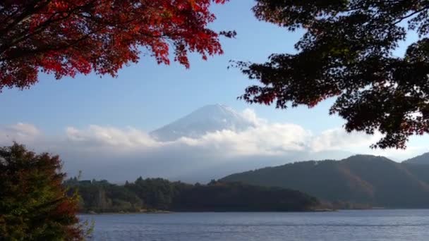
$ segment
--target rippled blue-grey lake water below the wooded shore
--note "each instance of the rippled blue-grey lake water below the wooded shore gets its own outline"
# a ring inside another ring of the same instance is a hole
[[[320,213],[174,213],[81,215],[92,240],[427,241],[429,209]]]

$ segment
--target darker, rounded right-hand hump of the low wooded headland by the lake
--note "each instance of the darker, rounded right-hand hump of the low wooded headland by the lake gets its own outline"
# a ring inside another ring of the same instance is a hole
[[[317,199],[295,190],[212,182],[182,190],[173,199],[176,211],[306,211]]]

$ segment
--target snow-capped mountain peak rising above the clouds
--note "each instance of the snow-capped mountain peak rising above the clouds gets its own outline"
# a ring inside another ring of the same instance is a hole
[[[217,130],[246,130],[255,124],[229,106],[212,104],[203,106],[178,120],[150,132],[159,141],[173,141],[180,137],[201,137]]]

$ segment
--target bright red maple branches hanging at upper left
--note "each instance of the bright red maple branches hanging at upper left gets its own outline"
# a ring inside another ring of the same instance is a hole
[[[4,0],[0,2],[0,91],[37,82],[40,71],[57,79],[116,75],[144,54],[157,63],[189,67],[188,53],[222,54],[219,35],[207,27],[212,2],[228,0]],[[170,53],[171,52],[171,53]]]

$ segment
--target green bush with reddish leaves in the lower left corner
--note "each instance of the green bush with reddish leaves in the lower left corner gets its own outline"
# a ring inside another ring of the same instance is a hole
[[[0,240],[83,240],[78,196],[63,178],[59,156],[0,148]]]

